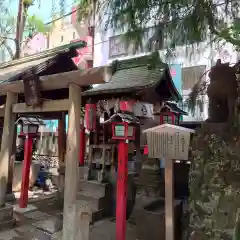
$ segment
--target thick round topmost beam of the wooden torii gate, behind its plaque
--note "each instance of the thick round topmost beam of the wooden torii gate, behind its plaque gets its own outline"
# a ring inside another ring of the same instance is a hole
[[[70,83],[79,86],[101,84],[109,81],[110,77],[111,71],[107,66],[42,76],[40,77],[41,91],[68,88]],[[23,81],[1,84],[0,96],[6,95],[7,91],[23,93]]]

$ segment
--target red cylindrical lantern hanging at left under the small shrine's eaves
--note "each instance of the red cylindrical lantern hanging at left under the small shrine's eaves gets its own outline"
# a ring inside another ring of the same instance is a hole
[[[96,131],[97,126],[97,105],[95,103],[87,103],[85,105],[86,129],[88,131]]]

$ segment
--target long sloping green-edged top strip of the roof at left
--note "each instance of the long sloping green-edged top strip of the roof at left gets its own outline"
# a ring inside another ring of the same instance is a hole
[[[0,64],[0,70],[3,68],[7,68],[7,67],[12,67],[18,64],[23,64],[26,62],[30,62],[30,61],[35,61],[35,60],[39,60],[41,58],[46,58],[46,57],[50,57],[54,54],[58,54],[60,52],[66,52],[69,49],[77,49],[80,47],[85,47],[87,45],[87,43],[85,41],[78,41],[78,42],[74,42],[74,43],[68,43],[59,47],[55,47],[55,48],[51,48],[51,49],[47,49],[43,52],[40,53],[36,53],[27,57],[23,57],[20,59],[16,59],[16,60],[12,60],[12,61],[8,61],[5,63]]]

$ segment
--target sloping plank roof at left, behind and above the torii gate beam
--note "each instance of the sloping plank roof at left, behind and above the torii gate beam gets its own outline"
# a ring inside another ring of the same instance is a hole
[[[70,43],[0,64],[0,84],[22,80],[22,75],[29,70],[40,74],[56,63],[58,57],[65,55],[71,59],[77,55],[76,49],[85,47],[85,45],[86,43],[84,41]],[[74,70],[77,70],[77,67]]]

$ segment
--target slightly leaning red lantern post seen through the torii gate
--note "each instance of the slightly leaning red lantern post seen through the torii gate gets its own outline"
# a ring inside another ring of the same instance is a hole
[[[29,188],[29,173],[32,161],[32,146],[33,137],[27,135],[24,145],[24,161],[22,167],[22,185],[21,185],[21,195],[19,201],[19,207],[25,208],[28,203],[28,188]]]

